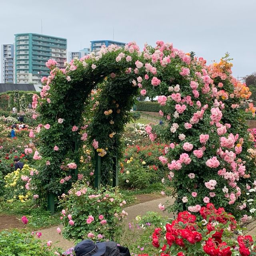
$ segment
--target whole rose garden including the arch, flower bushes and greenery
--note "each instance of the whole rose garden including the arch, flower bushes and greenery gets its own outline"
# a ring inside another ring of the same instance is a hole
[[[162,41],[143,51],[134,42],[103,47],[65,69],[48,60],[50,75],[40,94],[27,95],[33,110],[16,137],[15,114],[0,110],[0,215],[19,219],[1,227],[0,255],[75,255],[38,239],[56,225],[74,244],[112,240],[133,255],[256,255],[246,233],[256,212],[246,116],[256,108],[230,61],[226,54],[207,65]],[[158,96],[163,125],[126,125],[138,96]],[[18,92],[1,97],[26,111]],[[150,193],[170,215],[128,222],[124,208]],[[174,202],[162,204],[166,196]]]

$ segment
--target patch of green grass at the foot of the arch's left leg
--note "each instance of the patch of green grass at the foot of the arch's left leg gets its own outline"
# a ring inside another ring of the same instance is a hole
[[[51,215],[42,207],[38,207],[32,200],[26,202],[0,202],[0,215],[15,215],[18,218],[28,218],[28,228],[36,230],[47,228],[61,223],[59,214]]]

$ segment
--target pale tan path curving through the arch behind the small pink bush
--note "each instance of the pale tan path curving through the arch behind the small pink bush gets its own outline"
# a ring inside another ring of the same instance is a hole
[[[171,203],[174,202],[173,198],[158,198],[152,201],[148,201],[148,202],[144,202],[144,203],[140,203],[140,204],[135,204],[129,207],[126,207],[124,210],[128,213],[128,221],[132,221],[136,216],[138,215],[144,215],[146,214],[146,212],[149,211],[154,211],[154,212],[158,212],[159,214],[163,215],[163,216],[170,216],[172,217],[172,214],[168,214],[167,212],[162,212],[160,211],[160,209],[158,208],[158,204],[162,203],[165,204],[166,201],[170,201]],[[51,240],[53,243],[56,242],[56,246],[60,247],[64,250],[71,248],[74,246],[72,241],[66,240],[62,237],[62,235],[58,234],[56,229],[57,228],[62,229],[63,226],[59,225],[59,226],[53,226],[51,228],[46,228],[43,230],[39,230],[39,232],[42,233],[41,239],[42,240]]]

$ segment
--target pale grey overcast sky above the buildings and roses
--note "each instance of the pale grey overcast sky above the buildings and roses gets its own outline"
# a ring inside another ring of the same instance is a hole
[[[256,71],[256,0],[1,0],[0,44],[16,33],[68,39],[68,51],[91,40],[172,42],[207,63],[229,52],[234,76]]]

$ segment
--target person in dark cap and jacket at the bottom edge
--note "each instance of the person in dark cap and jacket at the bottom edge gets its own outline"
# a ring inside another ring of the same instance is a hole
[[[128,248],[112,241],[94,244],[92,240],[84,240],[75,246],[74,251],[76,256],[131,256]]]

